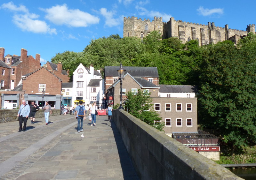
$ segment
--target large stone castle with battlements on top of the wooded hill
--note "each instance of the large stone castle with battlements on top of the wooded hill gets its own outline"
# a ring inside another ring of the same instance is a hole
[[[154,17],[154,20],[142,20],[137,17],[124,17],[124,32],[123,37],[135,36],[139,38],[145,37],[151,31],[158,31],[163,35],[163,39],[169,37],[177,37],[182,43],[190,40],[197,40],[200,46],[217,43],[220,41],[230,40],[235,44],[237,41],[249,32],[255,34],[255,24],[247,26],[246,31],[229,29],[226,24],[225,27],[215,26],[214,22],[208,22],[207,25],[185,22],[170,18],[168,22],[163,22],[162,17]]]

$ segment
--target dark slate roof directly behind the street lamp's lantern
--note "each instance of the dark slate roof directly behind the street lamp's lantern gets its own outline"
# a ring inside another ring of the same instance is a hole
[[[117,70],[119,66],[105,66],[105,77],[116,76],[118,77]],[[131,74],[133,77],[159,77],[157,67],[132,67],[123,66],[126,70],[125,73]]]

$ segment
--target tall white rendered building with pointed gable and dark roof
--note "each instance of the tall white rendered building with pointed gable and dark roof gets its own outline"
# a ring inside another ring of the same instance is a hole
[[[101,107],[104,99],[102,97],[103,88],[104,80],[100,70],[96,71],[92,66],[87,68],[83,64],[79,64],[73,72],[73,105],[79,105],[78,102],[82,100],[84,105],[89,106],[92,102],[96,102]]]

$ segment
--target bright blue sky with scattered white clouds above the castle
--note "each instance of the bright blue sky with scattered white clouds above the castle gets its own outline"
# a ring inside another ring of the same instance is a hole
[[[20,56],[20,49],[41,63],[51,61],[56,53],[81,52],[92,39],[119,34],[123,37],[124,17],[153,20],[163,17],[231,29],[246,30],[256,24],[256,1],[198,0],[1,0],[0,47],[5,55]]]

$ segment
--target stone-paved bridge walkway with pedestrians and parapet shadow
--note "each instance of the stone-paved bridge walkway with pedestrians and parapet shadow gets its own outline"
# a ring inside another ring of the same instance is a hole
[[[26,132],[18,121],[0,124],[0,180],[139,180],[107,119],[97,116],[96,127],[86,119],[80,133],[74,115],[28,120]]]

